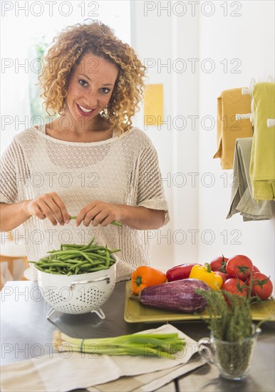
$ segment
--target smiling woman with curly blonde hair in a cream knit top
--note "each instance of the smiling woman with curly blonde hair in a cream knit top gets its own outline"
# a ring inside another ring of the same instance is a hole
[[[98,21],[68,27],[49,49],[42,96],[59,116],[16,135],[2,158],[1,231],[24,225],[29,260],[95,237],[121,249],[118,280],[150,264],[145,230],[169,217],[157,153],[131,121],[144,75]]]

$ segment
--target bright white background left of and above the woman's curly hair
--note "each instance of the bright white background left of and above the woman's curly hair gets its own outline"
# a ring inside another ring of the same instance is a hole
[[[40,63],[31,48],[44,37],[53,38],[67,26],[98,19],[115,35],[130,43],[130,1],[5,1],[1,7],[1,145],[2,154],[17,133],[43,123],[33,122],[29,84],[38,76]],[[49,28],[51,26],[51,28]],[[42,103],[42,101],[41,101]]]

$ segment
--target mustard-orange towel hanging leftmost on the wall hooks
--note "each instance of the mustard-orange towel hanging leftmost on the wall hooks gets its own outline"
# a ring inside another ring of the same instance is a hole
[[[218,150],[213,158],[221,158],[222,169],[232,169],[236,139],[253,135],[249,119],[236,120],[237,114],[251,113],[251,100],[242,95],[242,88],[222,91],[217,100]]]

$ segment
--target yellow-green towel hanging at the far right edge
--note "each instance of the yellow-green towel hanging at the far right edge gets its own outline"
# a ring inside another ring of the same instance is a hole
[[[256,83],[253,90],[254,137],[250,178],[256,200],[275,199],[275,127],[266,120],[275,118],[275,83]]]

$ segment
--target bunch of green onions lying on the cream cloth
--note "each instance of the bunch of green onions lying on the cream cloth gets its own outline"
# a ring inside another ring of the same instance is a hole
[[[115,338],[76,339],[60,331],[53,332],[53,345],[59,351],[89,354],[162,356],[175,359],[186,342],[178,334],[130,334]]]

